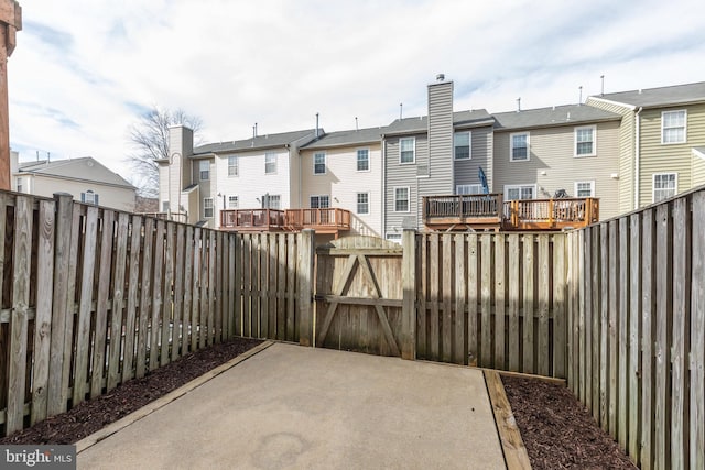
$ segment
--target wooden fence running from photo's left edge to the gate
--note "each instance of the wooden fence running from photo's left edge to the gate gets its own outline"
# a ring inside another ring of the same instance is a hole
[[[0,193],[0,435],[234,335],[299,341],[312,247]]]

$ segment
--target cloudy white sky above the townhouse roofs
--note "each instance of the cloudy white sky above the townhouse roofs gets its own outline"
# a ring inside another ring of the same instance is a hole
[[[21,160],[94,156],[131,178],[127,129],[153,106],[204,142],[387,125],[426,113],[576,103],[705,80],[702,0],[20,0],[9,59]]]

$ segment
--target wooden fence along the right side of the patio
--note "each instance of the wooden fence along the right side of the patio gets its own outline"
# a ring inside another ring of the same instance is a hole
[[[705,188],[568,252],[571,389],[642,469],[705,468]]]

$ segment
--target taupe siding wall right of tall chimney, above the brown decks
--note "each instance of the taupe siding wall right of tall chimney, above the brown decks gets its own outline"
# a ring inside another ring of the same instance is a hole
[[[576,127],[596,125],[595,156],[575,157]],[[512,131],[512,132],[518,132]],[[557,189],[575,196],[576,182],[595,182],[595,196],[600,199],[600,219],[619,214],[619,121],[532,129],[529,132],[530,160],[509,161],[509,135],[495,133],[495,187],[503,193],[506,185],[536,185],[538,198],[553,197]],[[543,174],[545,172],[545,174]]]

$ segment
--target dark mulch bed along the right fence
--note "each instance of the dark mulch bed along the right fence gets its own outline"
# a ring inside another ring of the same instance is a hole
[[[502,376],[533,469],[636,467],[564,386]]]

